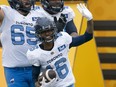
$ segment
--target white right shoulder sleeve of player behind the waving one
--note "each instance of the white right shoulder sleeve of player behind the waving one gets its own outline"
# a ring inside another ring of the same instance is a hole
[[[66,15],[67,22],[73,20],[73,18],[75,17],[75,13],[73,9],[69,6],[64,6],[64,10],[62,11],[62,14]]]

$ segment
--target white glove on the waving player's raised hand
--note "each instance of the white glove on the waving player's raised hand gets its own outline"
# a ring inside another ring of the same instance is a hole
[[[77,4],[77,9],[82,14],[82,16],[87,18],[88,21],[93,19],[91,12],[86,8],[84,4]]]

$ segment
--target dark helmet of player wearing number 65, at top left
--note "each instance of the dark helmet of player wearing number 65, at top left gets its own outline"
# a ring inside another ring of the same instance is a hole
[[[35,4],[35,0],[8,0],[8,2],[13,9],[16,9],[17,11],[22,11],[24,13],[29,13],[31,7],[34,7]]]

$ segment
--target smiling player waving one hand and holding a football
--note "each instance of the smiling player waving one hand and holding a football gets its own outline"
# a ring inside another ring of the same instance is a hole
[[[55,22],[47,17],[39,18],[35,25],[35,33],[40,44],[27,51],[27,57],[35,69],[33,76],[37,81],[40,71],[53,69],[57,78],[46,83],[43,77],[40,87],[74,87],[75,79],[70,66],[69,48],[79,46],[93,37],[93,16],[84,4],[78,4],[79,12],[87,18],[86,32],[81,36],[71,37],[66,32],[57,33]],[[37,85],[36,87],[39,87]]]

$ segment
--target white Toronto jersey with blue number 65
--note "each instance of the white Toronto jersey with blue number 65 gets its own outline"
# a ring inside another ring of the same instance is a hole
[[[32,10],[27,16],[23,16],[9,6],[1,6],[1,8],[5,14],[0,27],[3,48],[3,66],[31,66],[26,57],[26,52],[37,43],[37,39],[34,35],[35,32],[32,27],[39,13]]]

